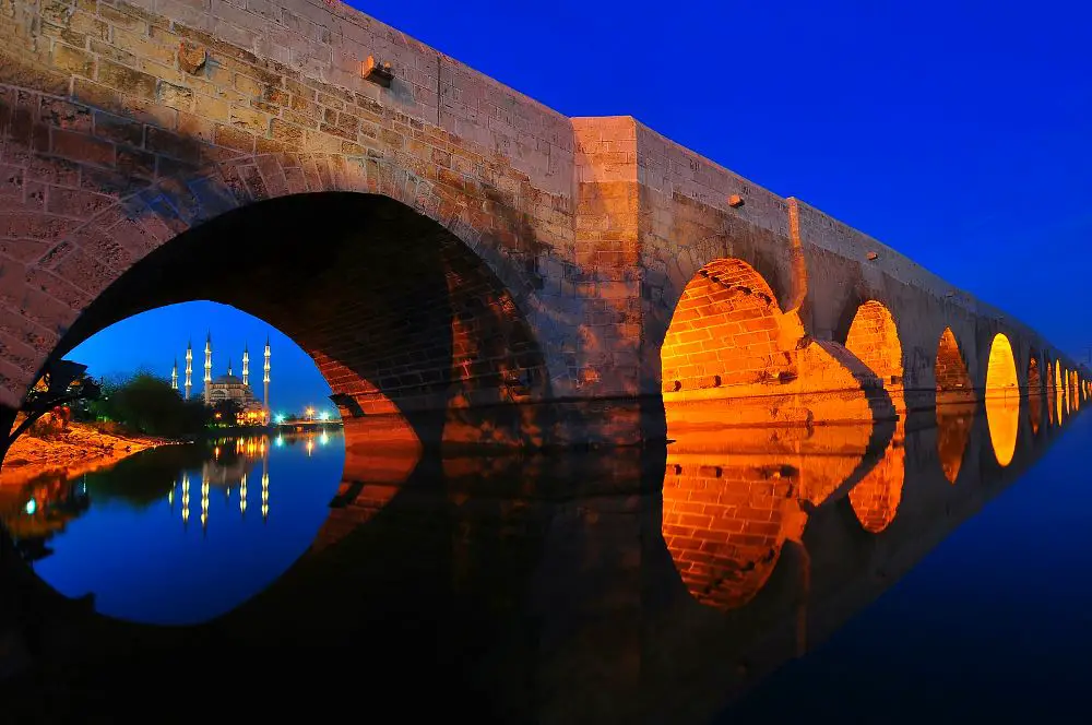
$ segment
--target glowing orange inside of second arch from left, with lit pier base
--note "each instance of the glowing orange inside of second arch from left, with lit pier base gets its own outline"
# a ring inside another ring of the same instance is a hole
[[[717,431],[740,427],[805,428],[808,438],[817,424],[850,424],[867,439],[876,417],[863,390],[875,376],[843,346],[809,338],[798,313],[782,312],[762,275],[735,258],[687,283],[661,370],[677,450],[716,448]]]

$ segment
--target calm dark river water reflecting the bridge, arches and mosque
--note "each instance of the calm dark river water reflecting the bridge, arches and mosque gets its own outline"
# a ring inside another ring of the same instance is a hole
[[[37,577],[94,595],[95,633],[55,638],[99,652],[72,708],[200,663],[313,713],[406,687],[400,717],[476,722],[1065,720],[1092,423],[1046,403],[563,456],[222,439],[0,503]]]

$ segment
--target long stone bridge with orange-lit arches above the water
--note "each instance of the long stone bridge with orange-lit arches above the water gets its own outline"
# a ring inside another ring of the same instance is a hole
[[[50,358],[192,299],[306,349],[351,449],[1087,391],[1035,331],[803,201],[337,3],[7,0],[0,38],[9,413]]]

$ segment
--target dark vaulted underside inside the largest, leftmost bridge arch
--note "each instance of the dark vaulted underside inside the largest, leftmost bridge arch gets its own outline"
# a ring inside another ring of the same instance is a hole
[[[235,263],[211,263],[226,249]],[[349,450],[544,441],[548,425],[511,405],[549,396],[545,358],[511,293],[458,237],[393,199],[280,197],[185,230],[102,292],[55,356],[117,320],[198,299],[299,344],[333,390]],[[399,416],[412,440],[390,433]]]

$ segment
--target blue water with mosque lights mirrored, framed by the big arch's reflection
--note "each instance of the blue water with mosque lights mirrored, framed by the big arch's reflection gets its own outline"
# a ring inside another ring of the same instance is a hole
[[[264,589],[327,519],[343,472],[341,433],[275,440],[168,445],[78,479],[52,473],[0,485],[0,516],[61,593],[94,593],[99,611],[134,621],[202,621]]]

